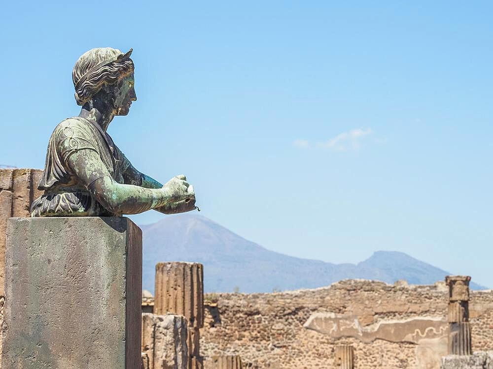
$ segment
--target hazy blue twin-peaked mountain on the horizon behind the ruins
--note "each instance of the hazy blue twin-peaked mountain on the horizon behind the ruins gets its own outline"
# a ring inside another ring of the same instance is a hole
[[[197,214],[143,225],[142,288],[154,291],[161,261],[204,264],[205,292],[272,292],[328,286],[348,278],[433,284],[450,273],[405,253],[377,251],[358,264],[332,264],[270,251]],[[471,283],[473,289],[485,287]]]

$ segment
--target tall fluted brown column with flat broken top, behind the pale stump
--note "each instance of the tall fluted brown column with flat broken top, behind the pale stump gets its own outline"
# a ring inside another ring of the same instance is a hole
[[[183,315],[188,321],[189,368],[201,369],[200,328],[204,326],[204,268],[199,263],[156,265],[155,314]]]

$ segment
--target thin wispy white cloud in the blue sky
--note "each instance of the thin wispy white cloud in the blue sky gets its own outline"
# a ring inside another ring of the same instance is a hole
[[[315,142],[315,144],[312,144],[307,140],[298,139],[293,142],[293,146],[300,149],[316,148],[333,151],[357,150],[361,145],[361,141],[372,133],[373,131],[371,128],[355,128],[348,132],[340,133],[327,141]]]

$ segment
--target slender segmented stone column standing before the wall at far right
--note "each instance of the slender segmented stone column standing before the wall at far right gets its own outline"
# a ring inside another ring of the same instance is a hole
[[[469,281],[468,276],[447,276],[449,286],[449,355],[471,355],[471,326],[469,324]]]

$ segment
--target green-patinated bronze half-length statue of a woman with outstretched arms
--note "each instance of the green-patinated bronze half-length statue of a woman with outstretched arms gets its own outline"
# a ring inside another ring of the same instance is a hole
[[[114,216],[155,209],[164,214],[195,209],[193,186],[183,175],[166,184],[139,172],[106,133],[115,116],[127,115],[133,101],[132,49],[84,53],[72,80],[78,117],[59,123],[51,134],[31,216]]]

